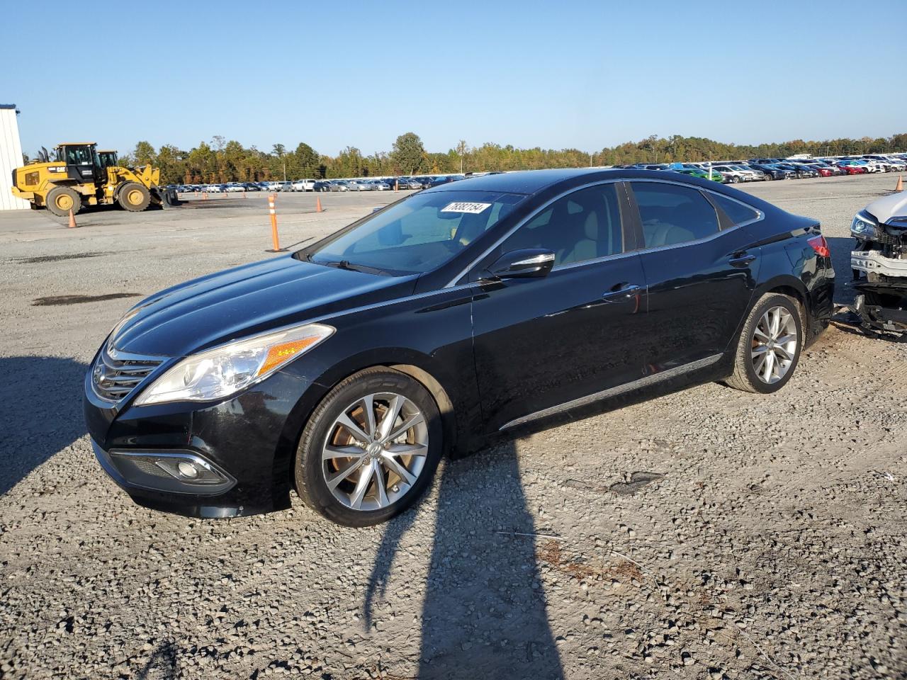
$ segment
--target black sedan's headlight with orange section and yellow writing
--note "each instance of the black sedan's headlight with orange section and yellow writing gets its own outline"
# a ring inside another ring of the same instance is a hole
[[[222,399],[264,380],[333,333],[329,325],[301,325],[187,356],[146,387],[135,403]]]

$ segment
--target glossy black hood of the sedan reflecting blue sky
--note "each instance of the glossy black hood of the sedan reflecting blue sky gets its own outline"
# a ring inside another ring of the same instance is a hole
[[[190,355],[247,335],[410,295],[415,278],[273,257],[196,278],[143,300],[115,329],[111,343],[137,355]]]

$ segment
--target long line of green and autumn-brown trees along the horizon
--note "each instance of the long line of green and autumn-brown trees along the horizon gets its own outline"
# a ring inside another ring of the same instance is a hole
[[[863,137],[858,140],[793,140],[757,145],[728,144],[704,137],[650,135],[641,141],[627,141],[600,151],[579,149],[518,149],[486,142],[472,147],[465,141],[448,151],[426,151],[419,136],[405,132],[397,137],[391,151],[370,155],[347,146],[335,156],[318,153],[305,142],[296,148],[274,144],[270,151],[245,147],[239,141],[215,136],[190,151],[172,144],[155,150],[148,141],[121,155],[121,165],[151,163],[161,168],[165,184],[201,184],[230,181],[335,179],[417,174],[483,172],[491,170],[538,170],[580,168],[590,165],[627,165],[673,161],[736,160],[754,157],[786,157],[799,153],[814,156],[841,156],[862,153],[907,151],[907,133],[891,137]]]

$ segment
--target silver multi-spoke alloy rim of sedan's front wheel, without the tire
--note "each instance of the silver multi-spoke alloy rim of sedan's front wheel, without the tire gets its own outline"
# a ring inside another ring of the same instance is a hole
[[[428,454],[428,423],[402,394],[368,394],[327,431],[321,467],[327,489],[352,510],[380,510],[413,488]]]

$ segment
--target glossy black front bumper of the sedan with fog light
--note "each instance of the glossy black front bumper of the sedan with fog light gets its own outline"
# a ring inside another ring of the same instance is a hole
[[[83,408],[99,463],[136,503],[190,517],[239,517],[289,507],[297,436],[320,392],[311,387],[278,372],[219,403],[137,407],[104,402],[89,372]],[[180,479],[180,462],[195,463],[210,483]]]

